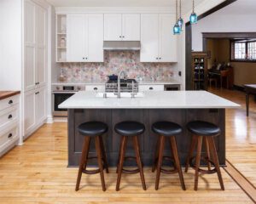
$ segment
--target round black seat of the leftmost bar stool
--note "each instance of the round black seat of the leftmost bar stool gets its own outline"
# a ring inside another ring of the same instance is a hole
[[[78,127],[79,133],[84,136],[95,137],[108,131],[108,125],[103,122],[84,122]]]

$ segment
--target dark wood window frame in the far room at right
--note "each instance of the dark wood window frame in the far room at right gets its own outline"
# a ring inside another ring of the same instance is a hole
[[[256,59],[235,59],[235,43],[241,42],[241,40],[230,40],[230,62],[249,62],[256,63]],[[243,41],[246,43],[246,55],[248,54],[248,43],[255,42],[256,40]]]

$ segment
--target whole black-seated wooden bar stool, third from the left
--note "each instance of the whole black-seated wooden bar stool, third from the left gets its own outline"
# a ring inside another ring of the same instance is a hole
[[[157,133],[159,135],[156,151],[154,155],[154,163],[152,167],[152,172],[154,172],[155,167],[157,169],[156,173],[156,179],[155,179],[155,190],[158,190],[159,188],[159,182],[160,182],[160,173],[178,173],[179,180],[182,185],[182,189],[186,190],[184,180],[183,180],[183,172],[180,167],[180,162],[177,154],[177,144],[175,135],[182,133],[182,127],[180,127],[178,124],[174,122],[155,122],[152,125],[152,130],[154,133]],[[165,149],[165,140],[169,139],[170,142],[170,148],[172,150],[172,156],[163,156],[164,149]],[[162,161],[163,159],[174,161],[172,170],[166,170],[162,168]]]

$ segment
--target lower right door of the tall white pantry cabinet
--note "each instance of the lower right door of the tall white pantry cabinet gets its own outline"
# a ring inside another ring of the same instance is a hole
[[[46,117],[46,88],[36,89],[36,123],[44,121]]]

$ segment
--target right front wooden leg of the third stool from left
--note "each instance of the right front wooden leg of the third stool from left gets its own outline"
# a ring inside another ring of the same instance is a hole
[[[177,168],[177,173],[179,175],[180,184],[182,185],[183,190],[186,190],[186,187],[184,184],[184,179],[183,179],[183,172],[180,167],[179,158],[178,158],[178,154],[177,154],[177,143],[176,143],[176,139],[174,136],[172,136],[170,138],[170,144],[171,144],[171,149],[172,149],[172,156],[174,158],[175,166]]]

